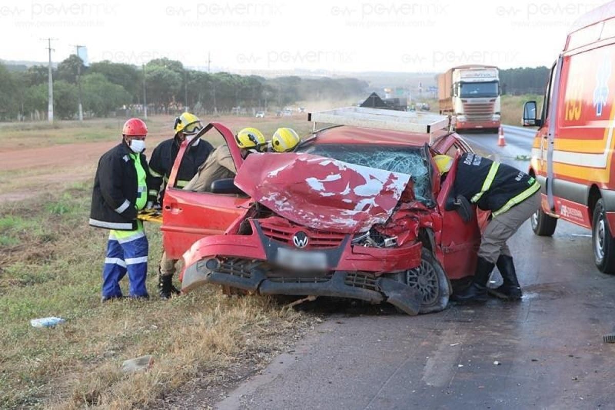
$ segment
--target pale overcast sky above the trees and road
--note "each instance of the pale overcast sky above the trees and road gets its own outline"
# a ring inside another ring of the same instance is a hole
[[[0,58],[46,61],[87,46],[90,61],[169,57],[212,71],[438,72],[485,63],[550,66],[582,0],[162,0],[0,2]]]

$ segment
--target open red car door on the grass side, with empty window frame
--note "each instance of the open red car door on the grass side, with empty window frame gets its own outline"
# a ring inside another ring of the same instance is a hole
[[[243,160],[231,130],[224,125],[208,124],[192,141],[184,141],[173,164],[162,203],[162,243],[167,255],[180,259],[196,240],[208,235],[223,234],[248,208],[250,197],[236,194],[184,191],[175,187],[177,173],[189,144],[215,129],[229,146],[237,169]]]

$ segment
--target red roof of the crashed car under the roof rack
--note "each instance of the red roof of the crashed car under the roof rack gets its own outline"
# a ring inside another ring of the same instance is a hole
[[[438,130],[431,136],[431,140],[448,134],[446,130]],[[406,131],[381,130],[376,128],[360,128],[342,125],[330,127],[316,133],[317,144],[379,144],[379,145],[405,145],[423,146],[430,142],[430,135]]]

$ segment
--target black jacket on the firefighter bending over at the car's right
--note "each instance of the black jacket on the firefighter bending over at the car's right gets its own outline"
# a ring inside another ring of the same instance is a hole
[[[454,195],[463,195],[472,202],[478,194],[494,162],[472,152],[462,154],[457,163],[457,175],[454,182]],[[497,164],[497,163],[496,163]],[[497,211],[510,199],[521,194],[536,183],[536,179],[506,164],[499,164],[491,186],[477,200],[478,208]]]

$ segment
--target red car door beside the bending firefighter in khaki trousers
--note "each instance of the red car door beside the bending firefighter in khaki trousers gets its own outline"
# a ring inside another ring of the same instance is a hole
[[[476,205],[472,204],[472,219],[467,223],[461,219],[457,211],[446,211],[445,204],[448,195],[453,189],[456,178],[459,152],[454,157],[451,170],[440,186],[437,202],[442,214],[442,243],[443,264],[446,275],[450,279],[460,279],[474,275],[477,261],[477,251],[480,245],[480,229]],[[480,212],[480,219],[485,219],[485,213]],[[481,221],[484,223],[484,221]]]

